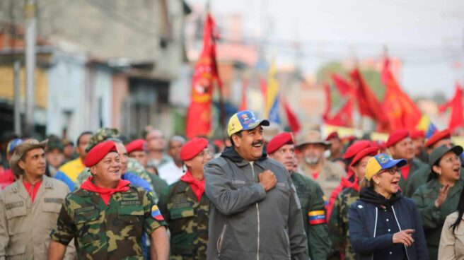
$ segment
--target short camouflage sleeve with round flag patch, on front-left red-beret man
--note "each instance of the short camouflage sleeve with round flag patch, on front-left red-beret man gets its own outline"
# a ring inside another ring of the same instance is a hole
[[[144,206],[144,231],[151,234],[157,228],[166,225],[166,221],[161,214],[161,211],[156,205],[153,196],[143,190],[142,205]]]

